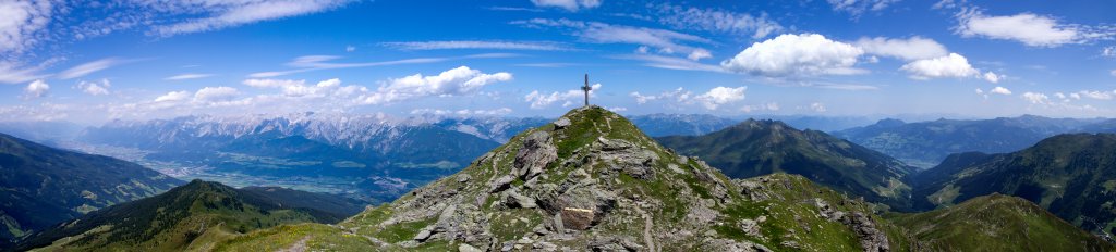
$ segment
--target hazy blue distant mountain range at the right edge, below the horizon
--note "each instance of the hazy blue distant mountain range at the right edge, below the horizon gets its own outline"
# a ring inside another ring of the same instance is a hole
[[[895,157],[911,165],[931,168],[953,153],[1012,152],[1059,133],[1116,132],[1114,130],[1116,120],[1022,115],[990,120],[940,119],[912,123],[887,119],[872,125],[836,131],[834,135]]]

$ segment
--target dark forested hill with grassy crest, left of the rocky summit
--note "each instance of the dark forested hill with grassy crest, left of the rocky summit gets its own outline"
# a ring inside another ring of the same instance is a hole
[[[277,188],[238,190],[195,180],[155,196],[92,212],[32,235],[47,251],[210,250],[221,240],[279,224],[333,223],[363,210],[349,200]]]

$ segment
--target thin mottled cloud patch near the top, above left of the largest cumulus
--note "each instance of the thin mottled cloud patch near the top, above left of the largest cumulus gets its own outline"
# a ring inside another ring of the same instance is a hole
[[[769,19],[767,14],[751,16],[715,9],[683,8],[666,3],[651,8],[658,11],[660,22],[675,29],[725,32],[734,36],[750,36],[752,39],[761,39],[772,32],[783,30],[782,26]]]

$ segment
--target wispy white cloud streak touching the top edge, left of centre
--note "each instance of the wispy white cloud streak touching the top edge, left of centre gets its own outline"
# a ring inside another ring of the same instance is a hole
[[[154,10],[164,13],[187,13],[196,17],[176,23],[155,26],[153,33],[169,37],[238,27],[260,21],[277,20],[323,12],[347,3],[347,0],[193,0],[193,1],[145,1]]]

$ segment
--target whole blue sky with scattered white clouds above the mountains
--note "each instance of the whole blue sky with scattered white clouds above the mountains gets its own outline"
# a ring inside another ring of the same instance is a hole
[[[0,120],[1116,117],[1113,1],[0,3]]]

